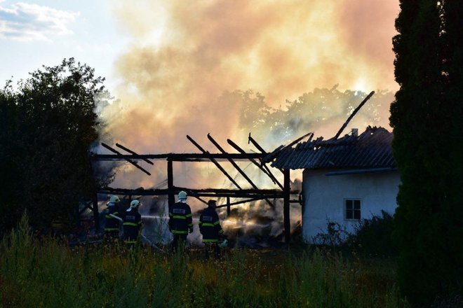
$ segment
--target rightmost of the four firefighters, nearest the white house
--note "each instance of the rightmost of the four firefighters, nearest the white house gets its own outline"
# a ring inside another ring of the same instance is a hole
[[[206,259],[210,253],[214,253],[215,258],[220,258],[220,241],[225,239],[224,230],[220,227],[220,220],[215,211],[215,200],[208,201],[208,208],[199,217],[199,231],[203,235],[203,244],[206,245]]]

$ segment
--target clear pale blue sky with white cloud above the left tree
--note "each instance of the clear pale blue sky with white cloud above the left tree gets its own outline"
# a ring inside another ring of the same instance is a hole
[[[27,78],[42,65],[74,57],[113,87],[114,61],[129,37],[118,27],[110,3],[0,0],[0,82]]]

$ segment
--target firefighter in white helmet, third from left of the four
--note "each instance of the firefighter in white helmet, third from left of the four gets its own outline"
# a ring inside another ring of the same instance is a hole
[[[169,209],[169,230],[172,232],[172,251],[184,248],[188,233],[193,232],[192,209],[187,204],[187,193],[178,193],[178,202]]]

